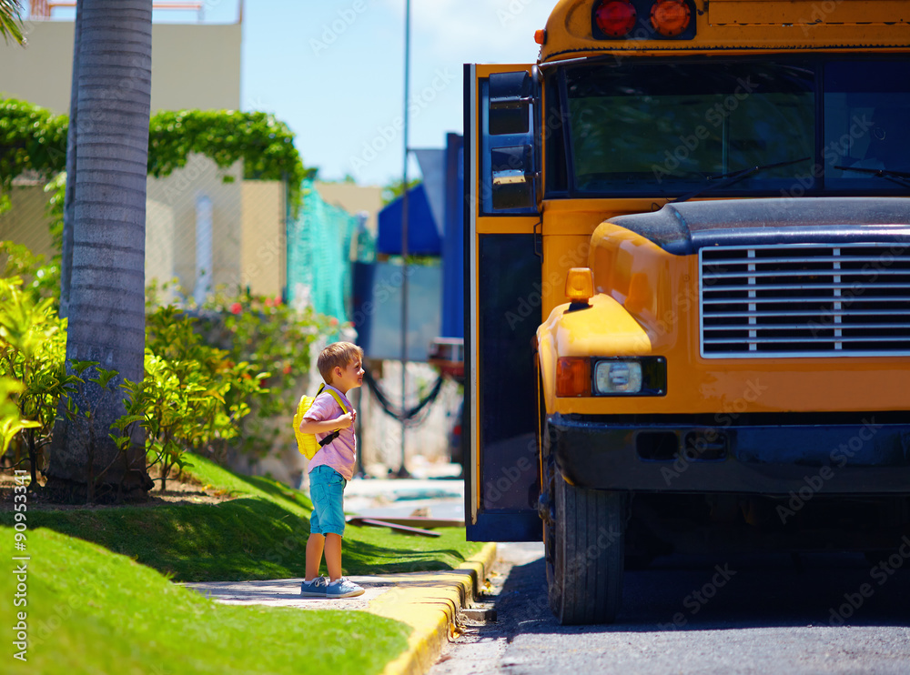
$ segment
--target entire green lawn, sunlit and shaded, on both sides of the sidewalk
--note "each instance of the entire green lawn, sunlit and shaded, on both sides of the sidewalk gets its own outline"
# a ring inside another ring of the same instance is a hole
[[[27,611],[28,660],[13,658],[7,636],[11,666],[4,672],[376,673],[406,648],[409,627],[367,612],[218,605],[171,583],[304,575],[309,500],[276,481],[192,461],[202,485],[237,499],[63,510],[31,505],[25,608],[13,606],[15,576],[0,575],[0,623],[12,629],[16,612]],[[7,551],[12,523],[11,511],[0,513]],[[482,546],[465,541],[463,529],[439,531],[442,537],[428,539],[349,526],[345,573],[450,569]]]

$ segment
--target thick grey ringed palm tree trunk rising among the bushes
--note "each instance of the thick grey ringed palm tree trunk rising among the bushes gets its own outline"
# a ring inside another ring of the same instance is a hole
[[[79,14],[66,360],[114,369],[117,385],[143,377],[152,0],[82,0]],[[94,368],[83,374],[92,377]],[[84,497],[90,479],[101,500],[113,499],[118,487],[128,496],[151,487],[143,448],[121,455],[108,436],[125,411],[121,391],[86,381],[74,397],[91,420],[78,415],[57,423],[47,470],[52,493],[76,490]],[[98,486],[89,475],[90,455]]]

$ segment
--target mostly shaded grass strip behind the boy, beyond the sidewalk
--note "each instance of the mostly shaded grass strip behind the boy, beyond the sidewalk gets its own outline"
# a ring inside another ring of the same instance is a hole
[[[237,495],[212,504],[28,511],[28,528],[54,529],[94,541],[177,581],[302,577],[312,506],[303,493],[274,480],[239,476],[193,457],[191,473],[206,486]],[[0,514],[0,524],[12,523]],[[438,539],[389,529],[348,526],[345,574],[452,569],[478,552],[464,529]],[[323,572],[325,567],[323,566]]]

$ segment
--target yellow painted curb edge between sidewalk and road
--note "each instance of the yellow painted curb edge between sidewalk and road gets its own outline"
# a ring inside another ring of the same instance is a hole
[[[458,569],[396,575],[390,589],[369,603],[369,611],[407,623],[411,630],[408,649],[389,662],[382,675],[423,675],[439,658],[449,640],[458,611],[474,599],[496,559],[496,544],[490,542]]]

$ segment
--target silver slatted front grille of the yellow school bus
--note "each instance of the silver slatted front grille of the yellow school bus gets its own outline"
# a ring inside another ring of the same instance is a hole
[[[910,245],[704,247],[706,358],[910,355]]]

